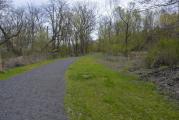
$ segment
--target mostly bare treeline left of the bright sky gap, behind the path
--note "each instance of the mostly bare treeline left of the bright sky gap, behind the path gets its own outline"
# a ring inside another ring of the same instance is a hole
[[[88,53],[95,28],[94,8],[50,0],[44,6],[13,7],[0,0],[0,54],[2,58],[32,54]]]

